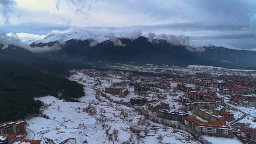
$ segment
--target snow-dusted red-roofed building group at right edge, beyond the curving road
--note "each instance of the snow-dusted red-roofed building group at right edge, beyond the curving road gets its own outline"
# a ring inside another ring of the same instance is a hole
[[[251,96],[234,95],[230,97],[229,102],[236,106],[256,107],[256,98]]]

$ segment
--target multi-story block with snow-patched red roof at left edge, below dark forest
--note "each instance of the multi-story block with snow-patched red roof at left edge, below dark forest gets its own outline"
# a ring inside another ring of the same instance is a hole
[[[18,134],[22,138],[27,135],[27,123],[25,120],[4,122],[0,124],[0,134]]]

